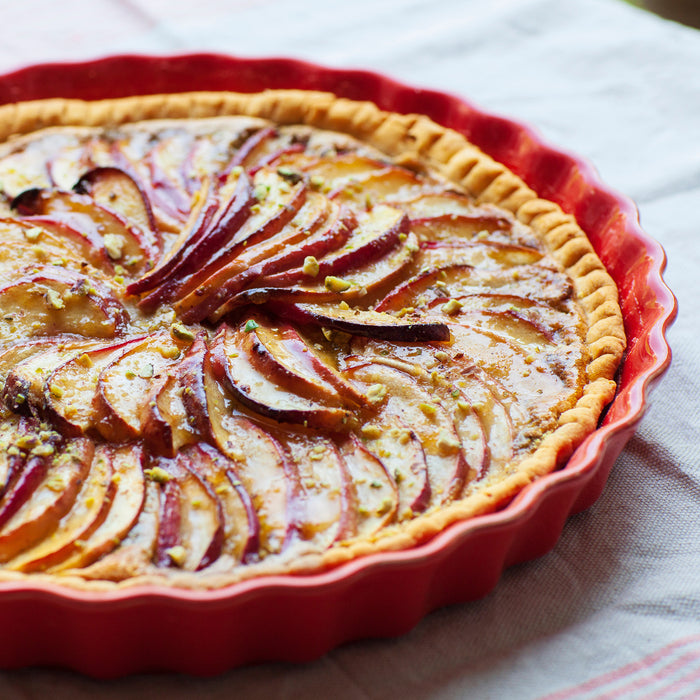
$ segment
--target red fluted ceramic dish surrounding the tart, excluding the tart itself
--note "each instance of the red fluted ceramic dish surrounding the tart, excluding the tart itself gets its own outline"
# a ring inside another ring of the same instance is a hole
[[[628,351],[618,393],[599,429],[564,468],[530,484],[504,509],[457,523],[410,550],[215,591],[134,587],[91,593],[26,581],[0,584],[0,621],[17,630],[0,643],[0,667],[58,665],[98,677],[147,670],[211,674],[259,661],[305,661],[353,639],[406,632],[431,610],[486,595],[507,566],[554,546],[567,517],[600,495],[652,387],[670,364],[666,331],[677,304],[662,277],[665,253],[642,231],[635,205],[603,185],[586,161],[461,97],[379,73],[296,59],[185,54],[29,66],[0,77],[0,104],[277,87],[326,90],[391,111],[425,114],[464,134],[574,214],[620,287]],[[613,238],[615,244],[607,245]],[[633,313],[641,308],[644,314]],[[264,633],[268,623],[275,624],[274,639]],[[97,644],[96,625],[112,630]],[[196,645],[183,643],[183,630]]]

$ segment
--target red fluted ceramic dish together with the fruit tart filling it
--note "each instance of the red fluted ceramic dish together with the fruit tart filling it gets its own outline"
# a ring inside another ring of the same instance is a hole
[[[455,98],[222,56],[3,90],[6,666],[301,660],[482,595],[670,360],[631,205]]]

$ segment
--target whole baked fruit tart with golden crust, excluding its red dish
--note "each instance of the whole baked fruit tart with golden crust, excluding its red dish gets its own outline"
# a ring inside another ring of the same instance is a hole
[[[326,93],[0,108],[0,580],[217,588],[406,549],[615,392],[590,242],[461,135]]]

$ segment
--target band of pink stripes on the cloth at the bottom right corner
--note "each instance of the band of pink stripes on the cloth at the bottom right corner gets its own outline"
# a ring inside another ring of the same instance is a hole
[[[696,648],[688,650],[689,646]],[[681,650],[684,653],[673,658],[673,655]],[[631,698],[635,691],[648,690],[652,685],[656,687],[651,692],[636,698],[656,700],[668,697],[669,693],[676,693],[697,681],[700,678],[700,668],[688,668],[696,662],[700,663],[700,635],[679,639],[639,661],[621,666],[580,685],[543,696],[540,700],[626,699]],[[663,665],[653,668],[659,664]],[[679,675],[681,669],[686,670],[686,673]],[[700,697],[700,688],[696,686],[695,690],[697,695],[688,697]]]

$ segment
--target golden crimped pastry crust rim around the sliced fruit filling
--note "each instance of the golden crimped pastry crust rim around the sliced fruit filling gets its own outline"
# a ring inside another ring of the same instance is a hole
[[[564,406],[556,427],[547,431],[537,449],[497,475],[487,477],[464,497],[431,509],[363,538],[350,538],[323,551],[299,551],[290,561],[262,560],[219,573],[157,571],[143,573],[144,562],[129,556],[106,557],[80,572],[31,574],[33,580],[60,582],[89,590],[143,584],[218,588],[249,577],[323,570],[370,553],[406,549],[426,541],[449,525],[491,512],[510,501],[527,484],[562,465],[581,441],[595,430],[601,412],[615,393],[614,375],[625,348],[617,289],[573,217],[554,203],[539,199],[505,166],[495,162],[460,134],[420,115],[379,110],[368,102],[336,98],[327,93],[283,90],[254,95],[189,93],[82,102],[46,100],[0,108],[0,158],[31,141],[37,131],[52,127],[112,128],[149,120],[181,120],[246,115],[275,125],[306,125],[347,134],[412,169],[439,173],[476,204],[493,205],[529,227],[573,281],[586,331],[586,382],[573,405]],[[136,550],[135,550],[136,551]],[[138,557],[137,557],[138,559]],[[135,575],[130,575],[134,573]],[[0,580],[28,576],[0,569]],[[104,579],[123,578],[119,581]]]

